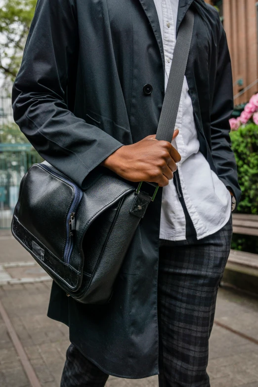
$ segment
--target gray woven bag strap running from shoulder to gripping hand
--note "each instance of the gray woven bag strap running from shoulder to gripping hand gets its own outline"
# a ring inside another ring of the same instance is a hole
[[[192,41],[193,24],[194,13],[188,9],[181,22],[176,38],[168,85],[156,133],[157,140],[172,141]]]

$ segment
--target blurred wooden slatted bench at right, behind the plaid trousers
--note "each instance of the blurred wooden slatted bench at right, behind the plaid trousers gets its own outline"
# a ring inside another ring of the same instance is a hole
[[[258,215],[233,214],[233,233],[258,237]],[[231,250],[222,282],[258,294],[258,254]]]

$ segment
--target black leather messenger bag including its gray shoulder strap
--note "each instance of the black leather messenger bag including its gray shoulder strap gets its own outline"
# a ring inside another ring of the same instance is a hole
[[[174,48],[158,140],[172,141],[193,22],[188,10]],[[34,164],[21,181],[12,219],[14,237],[68,296],[83,303],[109,301],[134,232],[158,189],[151,183],[151,197],[141,183],[135,190],[133,183],[104,170],[82,190],[47,162]]]

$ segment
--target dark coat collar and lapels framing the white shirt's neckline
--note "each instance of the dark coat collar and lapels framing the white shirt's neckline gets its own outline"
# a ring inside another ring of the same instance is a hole
[[[164,59],[164,50],[163,50],[163,42],[162,42],[162,35],[161,35],[161,29],[160,29],[160,23],[159,23],[159,17],[156,10],[156,6],[154,3],[154,0],[139,0],[143,10],[149,19],[150,25],[152,27],[152,30],[154,32],[155,38],[157,40],[157,43],[159,45],[161,58],[162,58],[162,64],[163,64],[163,70],[165,74],[165,59]],[[177,12],[177,20],[176,20],[176,35],[178,33],[179,26],[181,24],[181,21],[184,18],[184,15],[187,11],[187,9],[190,7],[191,3],[197,1],[201,5],[207,8],[207,5],[204,0],[179,0],[178,4],[178,12]]]

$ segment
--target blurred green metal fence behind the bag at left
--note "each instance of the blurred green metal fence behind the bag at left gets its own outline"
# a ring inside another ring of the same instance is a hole
[[[11,98],[0,95],[0,229],[10,228],[21,179],[41,161],[13,121]]]

